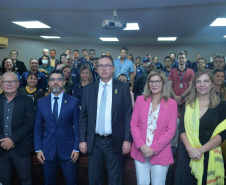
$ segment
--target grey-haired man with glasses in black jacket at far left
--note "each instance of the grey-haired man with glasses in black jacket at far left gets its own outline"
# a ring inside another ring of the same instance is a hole
[[[4,93],[0,96],[0,183],[11,185],[12,165],[20,183],[31,185],[31,153],[35,109],[32,99],[17,93],[18,76],[2,76]]]

